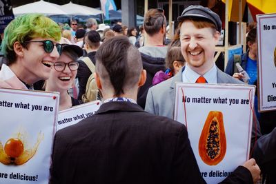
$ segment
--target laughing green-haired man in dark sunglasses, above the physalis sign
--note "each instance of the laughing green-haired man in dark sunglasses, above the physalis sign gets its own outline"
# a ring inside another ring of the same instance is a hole
[[[32,89],[46,80],[61,54],[59,25],[42,14],[25,14],[11,21],[1,51],[7,59],[0,71],[0,88]]]

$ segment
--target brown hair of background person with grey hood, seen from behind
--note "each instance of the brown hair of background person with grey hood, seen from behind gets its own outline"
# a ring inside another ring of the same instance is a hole
[[[144,29],[146,33],[150,36],[159,32],[163,25],[166,25],[166,17],[164,12],[159,11],[159,9],[150,9],[146,12],[144,17]]]

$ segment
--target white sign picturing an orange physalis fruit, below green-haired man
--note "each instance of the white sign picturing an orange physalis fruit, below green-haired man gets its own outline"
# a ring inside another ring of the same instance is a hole
[[[59,94],[0,89],[0,183],[48,183]]]

